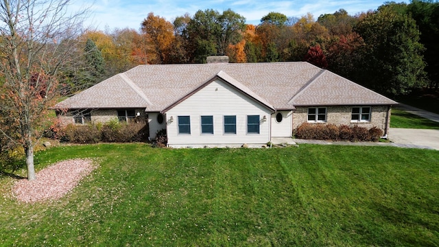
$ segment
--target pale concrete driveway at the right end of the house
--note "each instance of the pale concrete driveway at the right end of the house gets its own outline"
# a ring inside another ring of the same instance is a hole
[[[398,144],[425,146],[439,150],[439,130],[390,128],[389,139]]]

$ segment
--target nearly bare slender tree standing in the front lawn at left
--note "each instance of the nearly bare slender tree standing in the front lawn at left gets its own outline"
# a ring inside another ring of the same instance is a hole
[[[84,12],[69,14],[69,0],[1,1],[0,133],[25,151],[27,179],[36,178],[34,145],[57,95],[57,75],[70,62]]]

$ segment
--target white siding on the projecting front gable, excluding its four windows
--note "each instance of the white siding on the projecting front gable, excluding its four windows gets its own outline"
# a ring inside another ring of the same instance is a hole
[[[168,145],[226,146],[270,141],[270,110],[232,86],[215,80],[167,112]],[[236,115],[236,134],[224,134],[224,115]],[[259,115],[259,134],[247,134],[247,115]],[[178,116],[191,117],[191,134],[178,134]],[[213,116],[213,134],[201,133],[201,116]],[[267,119],[263,121],[263,117]]]

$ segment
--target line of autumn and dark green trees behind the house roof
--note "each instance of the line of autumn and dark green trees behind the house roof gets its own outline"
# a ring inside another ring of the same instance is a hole
[[[82,71],[73,84],[94,84],[138,64],[307,61],[394,97],[425,86],[438,89],[439,3],[385,3],[355,16],[287,17],[270,12],[259,25],[225,10],[198,10],[173,21],[150,13],[139,31],[86,32]],[[94,47],[95,46],[95,47]],[[88,47],[88,48],[87,48]],[[91,54],[93,58],[88,58]],[[84,66],[85,65],[85,66]]]

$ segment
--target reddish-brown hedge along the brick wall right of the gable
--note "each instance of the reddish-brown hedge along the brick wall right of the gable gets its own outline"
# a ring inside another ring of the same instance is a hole
[[[360,126],[336,126],[335,124],[304,123],[294,130],[298,139],[332,140],[332,141],[378,141],[383,130]]]

